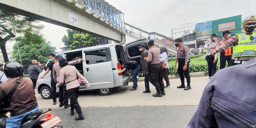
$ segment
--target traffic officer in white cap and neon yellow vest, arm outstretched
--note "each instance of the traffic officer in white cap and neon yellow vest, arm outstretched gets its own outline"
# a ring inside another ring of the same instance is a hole
[[[227,43],[214,49],[211,54],[220,52],[233,46],[233,65],[245,63],[251,58],[256,57],[256,34],[253,32],[256,28],[256,15],[247,16],[243,22],[245,33],[237,33]]]

